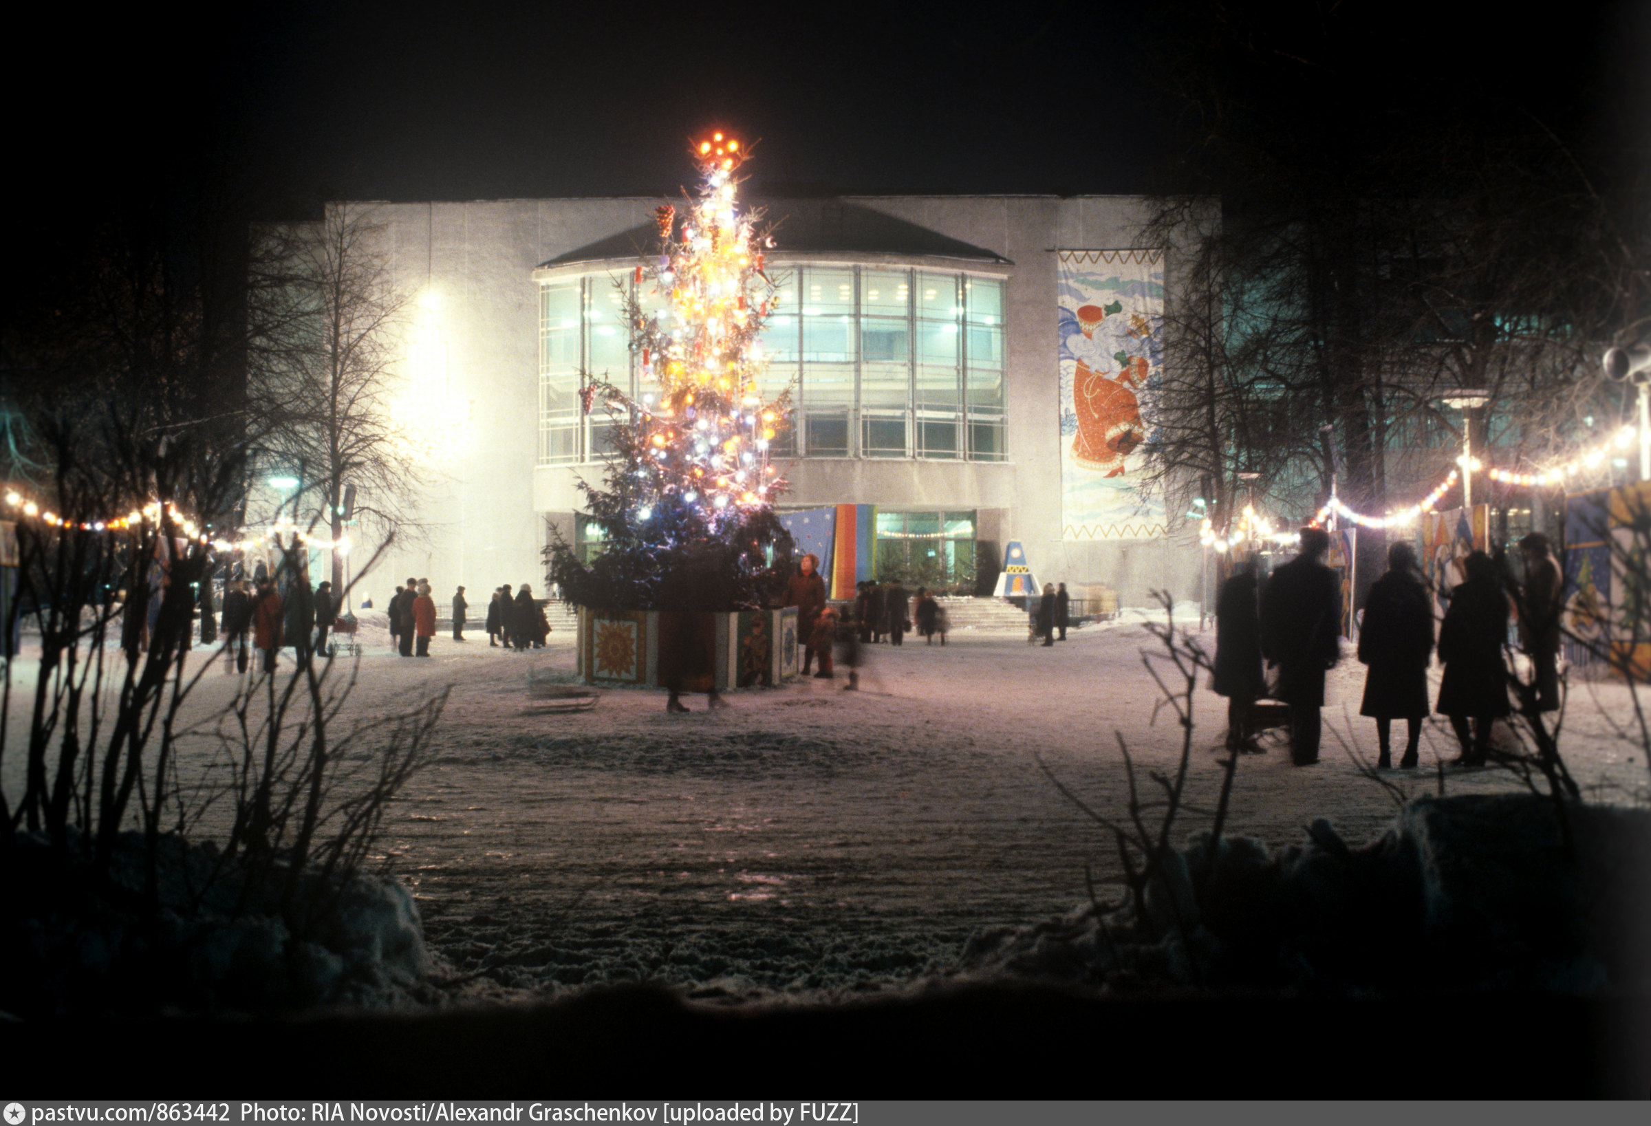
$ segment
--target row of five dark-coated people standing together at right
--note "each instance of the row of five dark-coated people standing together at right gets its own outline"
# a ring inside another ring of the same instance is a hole
[[[1535,707],[1559,708],[1559,613],[1563,576],[1549,538],[1534,532],[1519,542],[1526,581],[1519,588],[1521,637],[1535,670]],[[1271,695],[1289,708],[1291,758],[1298,766],[1319,758],[1324,674],[1341,657],[1341,580],[1322,563],[1329,535],[1301,530],[1301,553],[1260,584],[1255,560],[1245,560],[1222,584],[1215,606],[1215,682],[1228,698],[1228,746],[1253,746],[1251,715],[1268,695],[1263,660],[1278,669]],[[1428,715],[1428,662],[1438,651],[1445,665],[1435,710],[1445,715],[1463,766],[1489,758],[1491,728],[1511,713],[1507,641],[1512,580],[1496,560],[1473,551],[1463,581],[1450,591],[1435,646],[1433,598],[1410,543],[1387,550],[1387,573],[1372,586],[1359,631],[1359,660],[1369,667],[1360,715],[1375,720],[1377,769],[1390,769],[1392,723],[1405,720],[1400,769],[1420,764],[1422,721]]]

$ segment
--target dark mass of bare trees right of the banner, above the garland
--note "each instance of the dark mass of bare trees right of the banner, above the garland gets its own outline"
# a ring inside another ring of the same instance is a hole
[[[1223,471],[1251,469],[1293,512],[1334,474],[1352,505],[1380,510],[1418,499],[1459,452],[1451,391],[1489,391],[1474,446],[1516,459],[1616,416],[1620,393],[1595,371],[1598,348],[1648,314],[1631,200],[1514,106],[1395,91],[1372,112],[1365,17],[1286,8],[1215,5],[1164,48],[1199,137],[1146,243],[1210,196],[1222,215],[1185,248],[1166,317],[1162,469],[1212,479],[1215,499],[1230,495]]]

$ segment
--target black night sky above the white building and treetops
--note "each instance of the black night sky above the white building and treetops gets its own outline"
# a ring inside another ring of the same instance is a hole
[[[203,183],[263,216],[322,198],[667,192],[707,124],[761,140],[759,185],[1139,192],[1190,135],[1166,48],[1189,10],[1218,5],[226,7],[45,18],[35,68],[5,81],[48,221]],[[1644,5],[1471,5],[1483,15],[1455,21],[1451,7],[1351,5],[1344,88],[1417,112],[1471,91],[1587,144],[1633,142]]]

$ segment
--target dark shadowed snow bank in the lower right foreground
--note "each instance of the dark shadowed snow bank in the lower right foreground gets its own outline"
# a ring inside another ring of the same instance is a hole
[[[1651,811],[1422,797],[1349,847],[1324,819],[1270,852],[1195,834],[1139,910],[977,934],[969,976],[1113,989],[1651,987]],[[1565,835],[1573,840],[1567,852]]]

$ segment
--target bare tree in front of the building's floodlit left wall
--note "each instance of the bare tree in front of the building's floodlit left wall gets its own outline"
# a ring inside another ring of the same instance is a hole
[[[419,484],[414,442],[398,421],[409,296],[395,287],[381,228],[353,205],[319,223],[258,231],[249,305],[248,398],[271,469],[297,477],[291,515],[343,538],[353,515],[404,527]],[[342,589],[342,558],[332,555]]]

